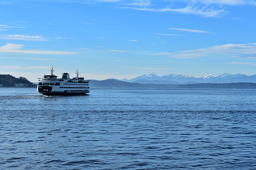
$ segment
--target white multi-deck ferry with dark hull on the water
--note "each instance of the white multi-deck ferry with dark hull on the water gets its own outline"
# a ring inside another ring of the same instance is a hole
[[[62,73],[61,79],[54,75],[55,70],[51,69],[50,75],[44,75],[43,78],[38,78],[37,93],[46,96],[57,95],[85,95],[89,93],[89,81],[83,77],[79,77],[76,70],[76,77],[70,79],[69,73]]]

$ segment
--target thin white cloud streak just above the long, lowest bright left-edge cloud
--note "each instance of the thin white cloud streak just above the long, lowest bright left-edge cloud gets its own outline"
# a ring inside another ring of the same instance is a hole
[[[46,41],[46,38],[42,36],[30,36],[30,35],[2,35],[0,39],[6,40],[26,40],[26,41]]]

